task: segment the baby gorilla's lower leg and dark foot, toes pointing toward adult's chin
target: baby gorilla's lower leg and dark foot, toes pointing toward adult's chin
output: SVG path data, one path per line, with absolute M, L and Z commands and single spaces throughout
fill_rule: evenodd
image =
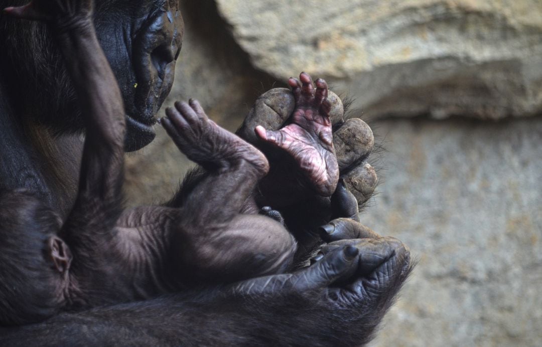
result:
M 183 187 L 183 209 L 193 207 L 203 220 L 213 216 L 218 221 L 230 221 L 267 174 L 266 157 L 210 120 L 195 100 L 189 104 L 176 102 L 175 108 L 167 108 L 166 115 L 160 123 L 173 142 L 207 171 L 191 187 Z

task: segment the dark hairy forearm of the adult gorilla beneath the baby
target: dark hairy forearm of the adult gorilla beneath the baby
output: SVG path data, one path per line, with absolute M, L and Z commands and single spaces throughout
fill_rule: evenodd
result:
M 319 305 L 317 299 L 307 302 L 281 295 L 268 300 L 236 299 L 222 297 L 218 291 L 205 291 L 199 295 L 176 294 L 144 303 L 62 314 L 49 322 L 11 331 L 4 342 L 183 346 L 362 344 L 367 331 L 349 331 L 358 317 L 351 317 L 353 321 L 344 324 L 341 322 L 344 316 L 345 312 L 335 316 L 324 303 Z M 130 324 L 126 324 L 127 320 Z

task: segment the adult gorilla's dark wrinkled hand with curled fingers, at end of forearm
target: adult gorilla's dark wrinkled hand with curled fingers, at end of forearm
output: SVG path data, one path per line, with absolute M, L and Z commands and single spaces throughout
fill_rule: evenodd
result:
M 364 344 L 393 303 L 412 268 L 409 249 L 350 219 L 337 221 L 334 229 L 335 239 L 359 238 L 328 243 L 313 265 L 293 274 L 231 288 L 241 307 L 267 311 L 257 324 L 247 322 L 267 343 Z

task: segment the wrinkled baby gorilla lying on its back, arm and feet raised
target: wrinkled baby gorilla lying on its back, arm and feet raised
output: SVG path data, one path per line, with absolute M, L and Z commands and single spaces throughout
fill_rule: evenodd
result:
M 156 297 L 186 285 L 222 284 L 284 271 L 296 243 L 283 225 L 256 212 L 252 198 L 266 157 L 209 120 L 197 101 L 178 102 L 161 123 L 204 171 L 180 191 L 180 208 L 122 210 L 125 113 L 96 39 L 90 0 L 35 0 L 7 9 L 48 21 L 86 120 L 79 191 L 67 220 L 24 191 L 0 194 L 0 324 L 43 320 L 59 310 Z M 76 21 L 66 18 L 77 18 Z M 256 128 L 300 165 L 313 190 L 338 181 L 327 85 L 290 79 L 296 108 L 279 131 Z M 241 213 L 243 212 L 243 213 Z M 267 212 L 270 215 L 271 213 Z

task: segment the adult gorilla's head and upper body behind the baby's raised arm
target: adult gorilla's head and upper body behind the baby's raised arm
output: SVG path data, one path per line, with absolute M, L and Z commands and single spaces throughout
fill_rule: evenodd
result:
M 1 0 L 0 8 L 27 3 Z M 83 129 L 62 57 L 41 22 L 0 14 L 1 188 L 36 192 L 63 215 L 72 207 Z M 149 144 L 173 83 L 184 24 L 177 1 L 95 4 L 96 34 L 126 107 L 126 150 Z

